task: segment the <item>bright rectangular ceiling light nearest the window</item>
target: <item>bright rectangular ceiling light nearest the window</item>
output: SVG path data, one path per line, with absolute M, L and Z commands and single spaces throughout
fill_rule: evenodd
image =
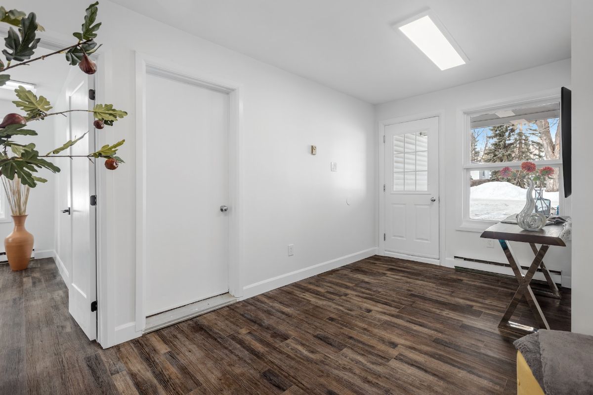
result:
M 431 11 L 394 25 L 441 70 L 464 65 L 468 59 Z

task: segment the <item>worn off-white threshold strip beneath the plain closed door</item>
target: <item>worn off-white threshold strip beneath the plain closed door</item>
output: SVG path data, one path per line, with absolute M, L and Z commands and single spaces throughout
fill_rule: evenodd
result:
M 165 326 L 173 325 L 178 322 L 189 320 L 190 318 L 200 316 L 209 311 L 220 309 L 229 304 L 237 303 L 238 299 L 229 293 L 213 296 L 208 299 L 200 300 L 177 309 L 163 311 L 146 317 L 146 327 L 142 333 L 153 332 L 162 329 Z

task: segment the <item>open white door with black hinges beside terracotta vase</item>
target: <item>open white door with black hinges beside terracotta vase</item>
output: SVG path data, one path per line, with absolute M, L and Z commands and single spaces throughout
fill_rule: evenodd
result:
M 91 108 L 88 89 L 92 87 L 93 79 L 79 73 L 79 77 L 69 80 L 68 84 L 69 109 Z M 69 149 L 70 155 L 88 155 L 95 150 L 95 134 L 91 124 L 90 113 L 76 111 L 69 114 L 70 139 L 74 140 L 88 131 L 84 139 Z M 85 158 L 71 160 L 72 270 L 68 287 L 68 310 L 91 340 L 97 337 L 97 312 L 91 311 L 91 303 L 97 295 L 95 207 L 90 204 L 90 196 L 95 194 L 93 162 Z

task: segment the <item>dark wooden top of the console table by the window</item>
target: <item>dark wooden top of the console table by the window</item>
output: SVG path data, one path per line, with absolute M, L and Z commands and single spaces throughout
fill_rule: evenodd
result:
M 506 220 L 515 219 L 515 215 Z M 570 238 L 572 222 L 544 226 L 543 229 L 531 232 L 524 230 L 517 224 L 499 222 L 484 230 L 480 237 L 484 239 L 507 240 L 511 242 L 546 244 L 549 246 L 566 246 Z

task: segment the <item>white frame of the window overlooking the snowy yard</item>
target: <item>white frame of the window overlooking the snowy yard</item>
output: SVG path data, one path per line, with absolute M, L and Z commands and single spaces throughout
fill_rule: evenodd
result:
M 496 220 L 484 220 L 484 219 L 473 219 L 470 217 L 470 179 L 471 171 L 484 171 L 484 170 L 499 170 L 505 166 L 509 166 L 511 169 L 521 168 L 523 161 L 514 162 L 500 162 L 500 163 L 472 163 L 470 155 L 470 133 L 471 133 L 471 117 L 476 115 L 489 114 L 496 111 L 512 110 L 517 107 L 530 107 L 536 105 L 549 104 L 550 102 L 560 102 L 560 95 L 542 95 L 537 98 L 527 100 L 512 100 L 505 101 L 498 105 L 486 105 L 483 107 L 467 108 L 461 110 L 461 132 L 463 139 L 463 150 L 461 155 L 461 223 L 457 227 L 457 230 L 467 230 L 470 232 L 482 232 L 489 226 L 492 226 L 499 221 Z M 559 205 L 560 215 L 569 215 L 567 210 L 567 199 L 564 197 L 564 185 L 562 180 L 562 143 L 560 144 L 560 159 L 543 159 L 533 161 L 538 167 L 551 166 L 559 169 Z

